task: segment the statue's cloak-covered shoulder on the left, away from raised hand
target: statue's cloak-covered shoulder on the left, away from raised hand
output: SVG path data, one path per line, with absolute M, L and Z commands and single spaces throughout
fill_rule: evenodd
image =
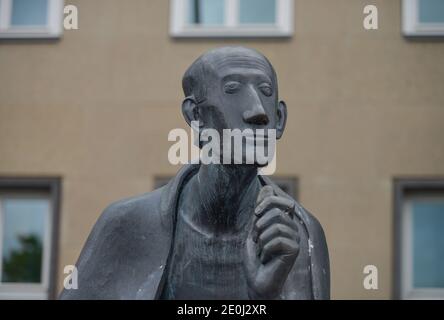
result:
M 116 201 L 103 211 L 76 263 L 78 289 L 64 290 L 61 299 L 135 298 L 137 290 L 125 288 L 141 286 L 168 252 L 159 214 L 162 191 Z

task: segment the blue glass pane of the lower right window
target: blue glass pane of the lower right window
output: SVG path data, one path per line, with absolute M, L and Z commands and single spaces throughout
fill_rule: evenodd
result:
M 413 285 L 444 288 L 444 201 L 412 205 Z

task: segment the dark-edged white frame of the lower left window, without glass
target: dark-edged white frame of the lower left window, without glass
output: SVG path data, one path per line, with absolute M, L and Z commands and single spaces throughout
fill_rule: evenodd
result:
M 4 198 L 48 199 L 50 210 L 47 217 L 48 229 L 44 239 L 44 248 L 47 249 L 43 250 L 41 282 L 38 284 L 0 282 L 0 299 L 54 299 L 56 297 L 60 186 L 59 178 L 0 177 L 0 220 L 3 219 L 1 202 Z M 3 260 L 2 241 L 3 234 L 0 230 L 0 254 Z M 2 267 L 3 261 L 1 261 L 0 269 Z

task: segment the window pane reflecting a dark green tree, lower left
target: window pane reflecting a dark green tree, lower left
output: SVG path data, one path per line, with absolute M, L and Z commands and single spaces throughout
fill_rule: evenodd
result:
M 41 282 L 48 200 L 5 199 L 2 211 L 2 282 Z

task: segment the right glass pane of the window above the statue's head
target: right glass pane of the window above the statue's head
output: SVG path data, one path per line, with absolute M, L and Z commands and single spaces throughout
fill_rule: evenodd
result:
M 240 23 L 275 23 L 276 0 L 240 0 Z

